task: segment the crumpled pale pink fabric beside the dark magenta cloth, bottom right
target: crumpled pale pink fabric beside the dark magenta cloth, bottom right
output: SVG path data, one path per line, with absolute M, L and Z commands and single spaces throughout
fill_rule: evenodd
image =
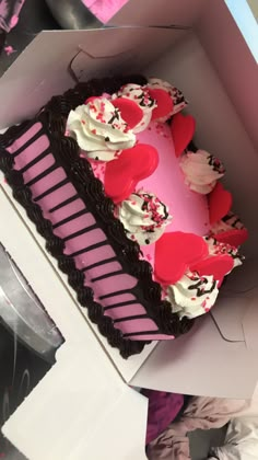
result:
M 220 398 L 194 398 L 179 422 L 172 423 L 149 445 L 149 460 L 190 460 L 188 432 L 221 428 L 242 414 L 249 402 Z

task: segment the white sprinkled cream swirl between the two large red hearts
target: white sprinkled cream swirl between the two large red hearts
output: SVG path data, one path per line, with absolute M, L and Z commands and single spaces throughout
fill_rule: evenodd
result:
M 132 193 L 117 207 L 117 216 L 128 238 L 140 245 L 159 240 L 172 220 L 168 208 L 154 194 L 146 192 Z

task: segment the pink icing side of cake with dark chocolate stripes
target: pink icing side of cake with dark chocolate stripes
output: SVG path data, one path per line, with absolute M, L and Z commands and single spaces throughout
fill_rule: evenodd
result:
M 24 169 L 23 175 L 25 182 L 30 183 L 31 181 L 34 181 L 33 185 L 30 186 L 33 197 L 36 203 L 40 205 L 44 217 L 49 219 L 54 225 L 55 234 L 66 241 L 64 253 L 71 255 L 74 252 L 86 248 L 87 252 L 73 255 L 77 267 L 81 269 L 86 266 L 90 267 L 98 261 L 107 260 L 107 262 L 99 267 L 85 268 L 85 285 L 94 289 L 95 300 L 99 301 L 104 308 L 127 301 L 134 301 L 132 304 L 121 306 L 119 308 L 114 307 L 105 311 L 105 314 L 110 315 L 115 320 L 115 326 L 120 329 L 124 334 L 127 334 L 127 336 L 130 337 L 130 334 L 139 333 L 140 340 L 173 338 L 173 336 L 165 334 L 156 334 L 157 326 L 151 319 L 143 317 L 138 318 L 137 320 L 128 320 L 128 318 L 133 317 L 133 314 L 145 315 L 144 308 L 130 291 L 130 289 L 137 285 L 138 280 L 129 274 L 120 273 L 122 267 L 118 260 L 108 261 L 112 257 L 116 257 L 116 254 L 109 245 L 103 230 L 94 228 L 87 231 L 87 229 L 95 225 L 95 218 L 86 209 L 83 202 L 80 198 L 77 198 L 77 191 L 73 185 L 66 183 L 67 175 L 64 170 L 60 166 L 56 166 L 55 170 L 51 169 L 44 177 L 38 177 L 37 180 L 37 176 L 55 164 L 54 156 L 50 152 L 49 141 L 45 135 L 40 136 L 40 124 L 36 123 L 32 128 L 27 129 L 20 139 L 13 142 L 8 150 L 15 156 L 14 169 Z M 27 141 L 32 141 L 32 143 L 26 146 Z M 44 152 L 46 152 L 46 157 L 44 157 Z M 33 162 L 31 166 L 28 164 L 30 162 Z M 62 184 L 63 181 L 64 183 Z M 50 191 L 51 187 L 56 187 L 58 184 L 60 185 L 57 189 Z M 46 195 L 40 196 L 42 194 Z M 51 211 L 54 207 L 74 196 L 75 199 L 72 203 Z M 62 223 L 62 220 L 70 216 L 72 216 L 72 219 L 69 222 Z M 75 233 L 82 229 L 85 230 L 85 233 L 75 235 Z M 92 248 L 92 245 L 99 242 L 104 242 L 105 245 Z M 94 281 L 94 278 L 102 277 L 105 274 L 109 274 L 110 276 Z M 124 292 L 117 295 L 116 292 L 119 291 Z M 114 294 L 114 296 L 112 296 L 112 294 Z M 110 297 L 103 299 L 102 296 Z M 124 321 L 122 319 L 127 320 Z M 153 334 L 150 334 L 149 331 L 152 331 Z M 139 336 L 136 335 L 131 338 L 139 340 Z

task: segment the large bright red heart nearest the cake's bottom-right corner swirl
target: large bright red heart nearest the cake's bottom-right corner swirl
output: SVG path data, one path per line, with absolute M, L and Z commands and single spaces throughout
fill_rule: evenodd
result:
M 174 285 L 190 265 L 207 256 L 208 245 L 201 237 L 180 231 L 164 233 L 155 244 L 155 277 L 162 285 Z

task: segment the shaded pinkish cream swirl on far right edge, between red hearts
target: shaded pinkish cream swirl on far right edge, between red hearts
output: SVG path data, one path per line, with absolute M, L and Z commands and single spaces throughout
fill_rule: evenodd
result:
M 179 164 L 186 184 L 201 195 L 209 194 L 225 173 L 221 161 L 206 150 L 197 150 L 196 153 L 188 151 L 180 158 Z

